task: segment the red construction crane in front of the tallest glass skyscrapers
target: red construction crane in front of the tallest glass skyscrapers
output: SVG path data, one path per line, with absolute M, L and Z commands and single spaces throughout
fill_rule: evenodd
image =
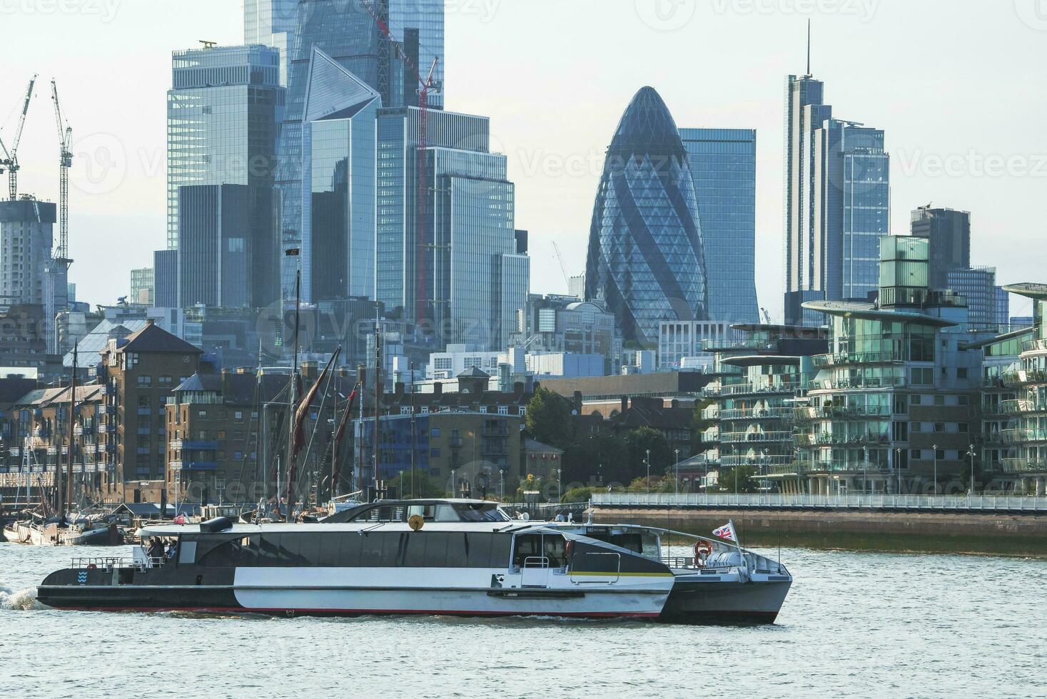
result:
M 423 264 L 425 252 L 428 249 L 435 249 L 435 245 L 427 241 L 427 229 L 425 226 L 425 217 L 428 211 L 429 202 L 429 173 L 428 173 L 428 161 L 426 160 L 427 154 L 426 150 L 429 146 L 428 139 L 428 117 L 429 117 L 429 92 L 437 91 L 440 89 L 440 85 L 433 77 L 437 72 L 437 66 L 440 63 L 440 59 L 437 58 L 432 61 L 432 66 L 429 68 L 429 73 L 425 77 L 422 77 L 422 73 L 419 71 L 418 64 L 407 57 L 407 53 L 403 50 L 403 46 L 400 42 L 393 38 L 393 31 L 389 29 L 388 25 L 388 12 L 386 10 L 384 16 L 379 12 L 375 2 L 370 0 L 360 0 L 360 5 L 366 9 L 371 16 L 375 19 L 375 23 L 378 25 L 378 29 L 385 36 L 385 39 L 389 42 L 389 45 L 396 49 L 397 57 L 403 62 L 404 69 L 409 70 L 415 74 L 418 80 L 419 92 L 418 92 L 418 193 L 416 199 L 418 200 L 418 208 L 415 213 L 415 258 L 416 258 L 416 274 L 418 278 L 418 297 L 415 303 L 415 318 L 416 320 L 422 320 L 426 316 L 426 312 L 429 307 L 428 294 L 428 273 Z

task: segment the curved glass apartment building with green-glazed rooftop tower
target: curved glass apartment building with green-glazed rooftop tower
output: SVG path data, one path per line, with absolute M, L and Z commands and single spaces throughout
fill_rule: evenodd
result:
M 829 354 L 815 358 L 783 488 L 931 493 L 966 472 L 982 356 L 962 297 L 928 287 L 928 253 L 926 240 L 886 238 L 878 303 L 805 303 L 828 319 Z

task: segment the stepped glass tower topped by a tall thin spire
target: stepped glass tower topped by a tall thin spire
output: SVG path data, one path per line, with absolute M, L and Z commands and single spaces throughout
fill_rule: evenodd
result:
M 822 322 L 812 300 L 865 298 L 877 288 L 890 232 L 884 132 L 832 118 L 824 85 L 789 75 L 785 114 L 785 322 Z

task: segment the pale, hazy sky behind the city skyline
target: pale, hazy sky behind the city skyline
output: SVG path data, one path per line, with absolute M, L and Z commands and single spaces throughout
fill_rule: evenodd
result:
M 782 314 L 786 76 L 811 72 L 840 118 L 886 131 L 892 232 L 928 203 L 970 210 L 973 262 L 999 283 L 1047 280 L 1045 0 L 447 0 L 445 104 L 490 116 L 509 158 L 532 292 L 584 271 L 603 153 L 632 95 L 659 90 L 681 127 L 755 128 L 756 276 Z M 126 295 L 165 243 L 171 51 L 242 43 L 241 0 L 0 0 L 0 138 L 19 189 L 58 196 L 50 81 L 73 128 L 70 278 L 81 300 Z M 5 191 L 5 188 L 3 189 Z M 1029 315 L 1012 297 L 1012 315 Z

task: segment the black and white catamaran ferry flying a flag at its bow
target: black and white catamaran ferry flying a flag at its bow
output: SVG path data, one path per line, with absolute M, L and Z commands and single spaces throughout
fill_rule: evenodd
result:
M 281 615 L 634 617 L 773 623 L 793 578 L 722 541 L 647 526 L 512 519 L 483 500 L 378 501 L 319 523 L 157 524 L 132 559 L 76 559 L 59 609 Z M 693 546 L 667 546 L 687 537 Z M 172 545 L 173 544 L 173 545 Z M 686 556 L 669 556 L 671 551 Z

